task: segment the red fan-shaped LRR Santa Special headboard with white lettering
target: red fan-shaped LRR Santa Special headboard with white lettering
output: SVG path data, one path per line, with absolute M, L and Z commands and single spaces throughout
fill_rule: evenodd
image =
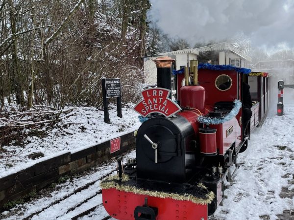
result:
M 142 91 L 143 100 L 139 102 L 134 110 L 146 117 L 151 113 L 161 113 L 166 117 L 180 111 L 181 108 L 169 99 L 171 90 L 166 88 L 148 88 Z

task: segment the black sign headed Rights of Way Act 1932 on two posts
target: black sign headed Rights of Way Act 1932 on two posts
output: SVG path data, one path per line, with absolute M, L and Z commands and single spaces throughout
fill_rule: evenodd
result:
M 101 78 L 102 83 L 102 96 L 103 96 L 103 108 L 104 108 L 104 122 L 110 123 L 109 113 L 108 113 L 108 99 L 117 97 L 117 111 L 118 116 L 123 117 L 122 114 L 122 89 L 121 89 L 121 79 L 106 79 Z

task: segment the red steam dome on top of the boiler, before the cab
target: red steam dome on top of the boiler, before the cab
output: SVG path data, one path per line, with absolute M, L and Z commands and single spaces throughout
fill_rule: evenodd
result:
M 181 106 L 189 106 L 205 113 L 205 88 L 201 86 L 183 86 L 180 89 Z

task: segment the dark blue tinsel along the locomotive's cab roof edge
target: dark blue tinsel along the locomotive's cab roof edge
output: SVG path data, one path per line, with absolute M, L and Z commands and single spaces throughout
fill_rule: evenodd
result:
M 211 70 L 235 70 L 239 73 L 249 74 L 251 72 L 251 69 L 247 68 L 241 68 L 231 65 L 211 65 L 211 64 L 199 64 L 198 69 L 211 69 Z M 172 70 L 172 74 L 181 74 L 184 72 L 184 68 L 181 68 L 180 70 Z

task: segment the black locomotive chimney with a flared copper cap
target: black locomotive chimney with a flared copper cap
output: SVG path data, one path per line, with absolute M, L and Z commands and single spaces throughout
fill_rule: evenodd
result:
M 171 57 L 157 57 L 153 60 L 157 68 L 157 87 L 172 90 L 171 67 L 174 61 Z M 172 92 L 169 98 L 172 99 Z

